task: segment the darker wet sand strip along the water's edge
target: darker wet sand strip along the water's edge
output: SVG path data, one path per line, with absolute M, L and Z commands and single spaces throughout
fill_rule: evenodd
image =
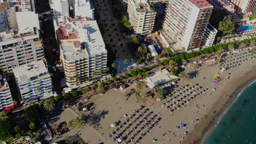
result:
M 243 73 L 242 76 L 232 79 L 228 86 L 222 91 L 219 100 L 214 103 L 214 108 L 211 109 L 201 122 L 195 125 L 193 131 L 182 143 L 201 143 L 206 141 L 206 139 L 212 134 L 214 129 L 217 127 L 218 123 L 222 121 L 226 112 L 229 111 L 232 104 L 235 103 L 241 92 L 245 90 L 251 83 L 256 81 L 256 65 L 254 65 L 249 71 Z M 229 98 L 226 100 L 226 96 Z M 224 102 L 224 103 L 223 103 Z

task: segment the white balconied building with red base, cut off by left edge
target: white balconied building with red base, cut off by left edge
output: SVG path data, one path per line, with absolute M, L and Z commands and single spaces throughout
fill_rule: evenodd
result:
M 13 98 L 11 98 L 9 85 L 2 71 L 0 72 L 0 110 L 13 109 Z

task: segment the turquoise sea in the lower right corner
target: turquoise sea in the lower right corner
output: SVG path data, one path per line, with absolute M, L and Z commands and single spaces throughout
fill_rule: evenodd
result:
M 256 82 L 230 107 L 204 144 L 256 143 Z

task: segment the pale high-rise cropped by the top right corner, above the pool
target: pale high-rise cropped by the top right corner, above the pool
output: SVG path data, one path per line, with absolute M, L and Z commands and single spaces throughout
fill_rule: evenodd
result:
M 247 13 L 256 11 L 255 0 L 228 0 L 235 5 L 236 13 Z

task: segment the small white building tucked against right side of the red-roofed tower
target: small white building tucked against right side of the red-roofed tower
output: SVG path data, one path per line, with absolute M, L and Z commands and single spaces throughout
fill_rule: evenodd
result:
M 209 25 L 206 28 L 205 38 L 203 39 L 204 47 L 213 45 L 217 33 L 217 29 L 209 23 Z

